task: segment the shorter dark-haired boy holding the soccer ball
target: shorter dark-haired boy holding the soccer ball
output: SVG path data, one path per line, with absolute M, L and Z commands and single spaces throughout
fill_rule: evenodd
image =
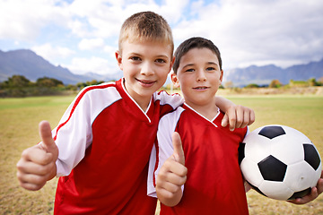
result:
M 223 80 L 219 49 L 208 39 L 187 39 L 175 52 L 173 71 L 185 102 L 160 120 L 148 193 L 162 202 L 161 214 L 249 214 L 238 162 L 248 127 L 231 132 L 221 126 L 224 114 L 214 106 Z M 322 191 L 320 179 L 294 203 L 310 202 Z

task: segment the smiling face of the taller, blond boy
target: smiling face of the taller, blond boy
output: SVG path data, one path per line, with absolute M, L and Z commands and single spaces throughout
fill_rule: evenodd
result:
M 137 103 L 149 103 L 153 92 L 162 87 L 170 73 L 171 48 L 160 42 L 127 40 L 122 47 L 122 54 L 116 52 L 116 57 L 124 73 L 127 92 Z

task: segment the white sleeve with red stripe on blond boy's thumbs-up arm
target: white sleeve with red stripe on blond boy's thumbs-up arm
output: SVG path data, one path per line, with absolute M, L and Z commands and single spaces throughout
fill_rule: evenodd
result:
M 114 82 L 84 88 L 67 108 L 57 128 L 59 150 L 57 176 L 67 176 L 83 159 L 85 150 L 92 144 L 92 123 L 100 112 L 118 99 L 122 99 Z

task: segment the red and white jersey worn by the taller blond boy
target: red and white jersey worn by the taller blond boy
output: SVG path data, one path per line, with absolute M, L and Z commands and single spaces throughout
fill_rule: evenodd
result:
M 55 214 L 154 214 L 146 194 L 159 119 L 181 105 L 154 93 L 144 112 L 123 79 L 83 89 L 52 133 L 57 143 Z

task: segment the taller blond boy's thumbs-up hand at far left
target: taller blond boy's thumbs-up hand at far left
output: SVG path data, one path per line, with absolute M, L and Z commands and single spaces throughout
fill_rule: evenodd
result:
M 23 150 L 22 158 L 17 163 L 20 185 L 32 191 L 43 187 L 57 172 L 58 148 L 47 121 L 39 123 L 39 135 L 42 142 Z

